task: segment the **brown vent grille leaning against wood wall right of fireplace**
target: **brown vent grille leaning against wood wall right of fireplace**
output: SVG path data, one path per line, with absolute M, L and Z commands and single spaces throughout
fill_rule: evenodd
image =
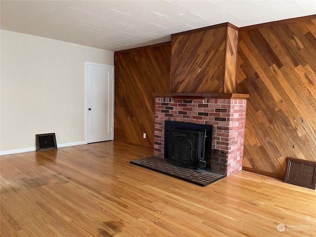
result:
M 315 190 L 316 161 L 287 157 L 284 183 Z

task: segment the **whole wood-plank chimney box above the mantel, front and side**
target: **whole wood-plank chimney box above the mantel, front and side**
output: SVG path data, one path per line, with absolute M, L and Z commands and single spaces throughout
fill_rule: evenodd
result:
M 238 28 L 230 23 L 171 35 L 174 93 L 235 93 Z

